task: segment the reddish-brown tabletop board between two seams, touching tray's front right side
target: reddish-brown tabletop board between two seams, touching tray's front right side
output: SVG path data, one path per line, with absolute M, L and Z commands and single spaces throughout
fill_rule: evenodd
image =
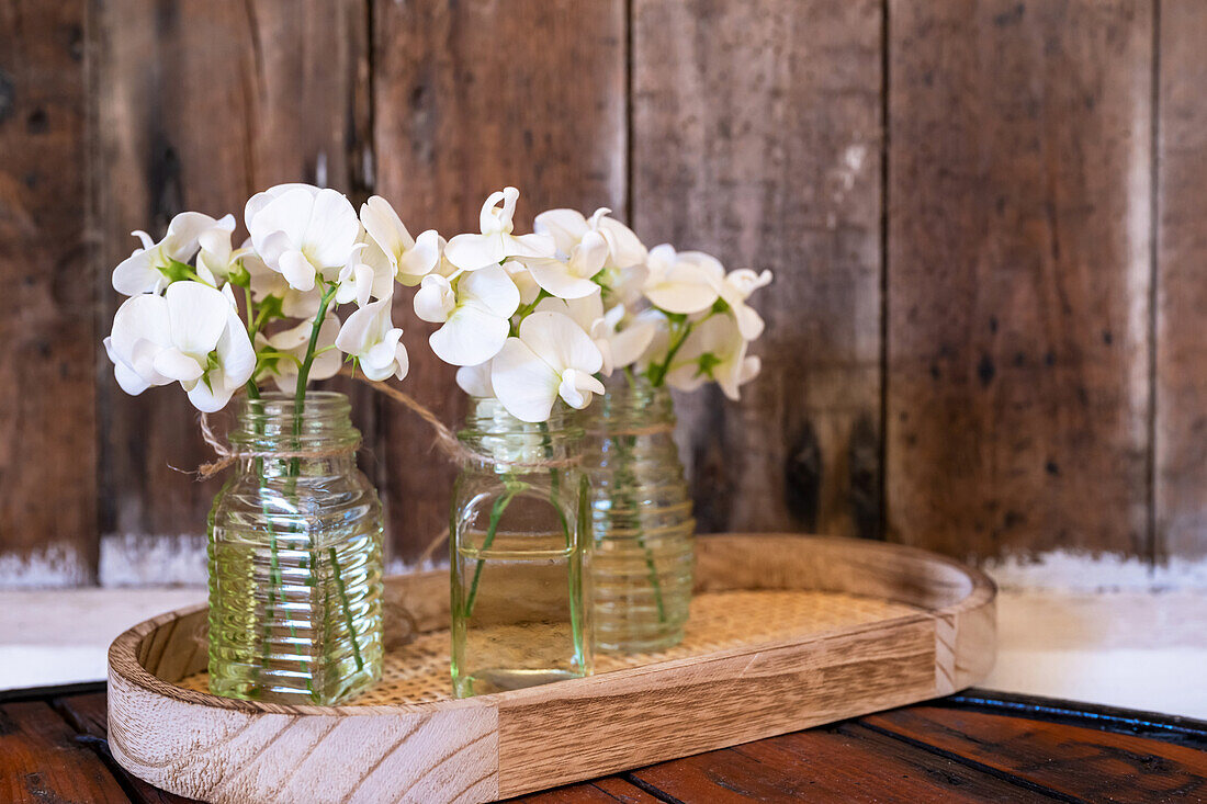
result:
M 701 753 L 632 774 L 682 802 L 1018 802 L 1031 791 L 855 723 Z M 890 781 L 891 780 L 891 781 Z

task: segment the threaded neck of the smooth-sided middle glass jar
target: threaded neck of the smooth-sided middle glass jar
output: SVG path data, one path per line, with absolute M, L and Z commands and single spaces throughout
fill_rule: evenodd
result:
M 566 468 L 578 456 L 582 427 L 559 401 L 548 421 L 520 421 L 498 400 L 473 398 L 465 429 L 457 433 L 470 450 L 490 459 L 489 468 L 511 471 Z M 480 466 L 482 464 L 479 464 Z

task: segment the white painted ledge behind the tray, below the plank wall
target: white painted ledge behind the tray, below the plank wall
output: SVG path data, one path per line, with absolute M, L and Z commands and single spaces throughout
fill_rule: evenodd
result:
M 205 600 L 200 587 L 0 592 L 0 689 L 105 677 L 130 625 Z M 1207 590 L 1005 590 L 981 686 L 1207 719 Z

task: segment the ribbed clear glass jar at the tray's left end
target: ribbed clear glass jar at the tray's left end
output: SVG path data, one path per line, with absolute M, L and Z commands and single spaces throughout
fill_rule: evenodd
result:
M 332 705 L 381 676 L 381 505 L 343 394 L 244 400 L 209 519 L 210 692 Z M 301 453 L 301 454 L 299 454 Z

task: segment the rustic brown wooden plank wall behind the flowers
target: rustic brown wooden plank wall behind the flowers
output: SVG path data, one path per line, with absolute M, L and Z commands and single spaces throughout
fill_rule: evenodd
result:
M 205 450 L 113 383 L 109 273 L 299 179 L 442 232 L 514 183 L 525 225 L 774 269 L 763 377 L 681 401 L 704 531 L 1202 557 L 1203 42 L 1201 0 L 0 0 L 0 584 L 200 543 L 216 485 L 168 465 Z M 453 471 L 355 394 L 414 559 Z

